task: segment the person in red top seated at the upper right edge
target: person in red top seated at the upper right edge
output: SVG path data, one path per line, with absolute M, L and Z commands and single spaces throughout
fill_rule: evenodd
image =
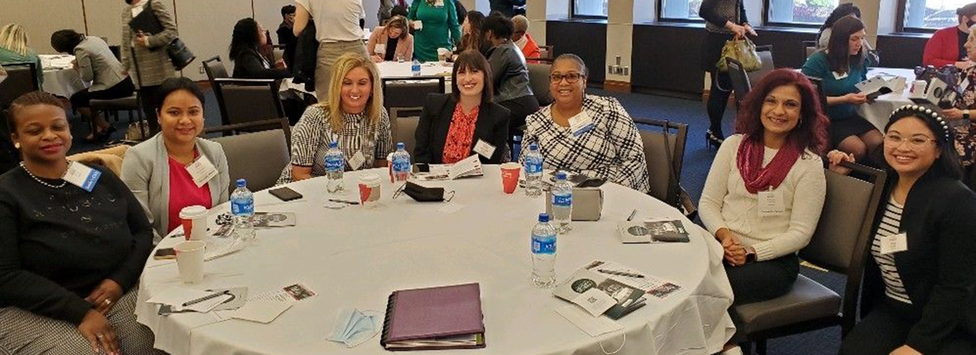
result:
M 946 65 L 956 65 L 965 69 L 973 65 L 963 46 L 969 37 L 969 27 L 976 24 L 976 3 L 956 9 L 959 24 L 946 27 L 932 34 L 932 38 L 925 43 L 925 53 L 922 55 L 922 65 L 934 65 L 941 68 Z

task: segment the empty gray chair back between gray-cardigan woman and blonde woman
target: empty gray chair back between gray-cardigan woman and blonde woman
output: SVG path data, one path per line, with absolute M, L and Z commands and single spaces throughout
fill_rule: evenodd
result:
M 233 134 L 275 124 L 279 126 L 274 129 Z M 274 186 L 281 169 L 291 160 L 291 127 L 288 119 L 209 127 L 201 135 L 216 132 L 232 134 L 210 139 L 224 147 L 230 179 L 247 179 L 248 189 L 252 191 Z M 231 184 L 230 190 L 233 189 Z

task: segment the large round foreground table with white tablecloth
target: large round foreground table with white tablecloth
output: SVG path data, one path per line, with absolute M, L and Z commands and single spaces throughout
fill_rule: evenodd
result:
M 590 337 L 553 311 L 571 304 L 534 288 L 529 235 L 545 211 L 543 197 L 519 189 L 502 192 L 497 165 L 485 165 L 483 177 L 423 182 L 455 191 L 449 203 L 462 209 L 438 211 L 446 202 L 417 202 L 407 195 L 392 199 L 394 185 L 384 179 L 380 204 L 334 210 L 323 206 L 325 179 L 288 186 L 304 195 L 281 202 L 266 191 L 255 194 L 256 211 L 295 212 L 297 226 L 257 231 L 257 245 L 206 262 L 196 289 L 247 286 L 249 295 L 303 283 L 317 295 L 296 302 L 269 324 L 243 320 L 214 323 L 208 314 L 158 316 L 158 305 L 145 301 L 180 286 L 175 263 L 153 264 L 142 273 L 136 314 L 156 335 L 156 347 L 185 354 L 379 354 L 380 336 L 346 348 L 327 340 L 342 307 L 384 311 L 396 290 L 480 283 L 487 346 L 476 350 L 422 351 L 428 354 L 711 354 L 731 337 L 726 313 L 732 290 L 721 265 L 721 246 L 676 209 L 616 184 L 606 184 L 598 222 L 573 222 L 559 236 L 556 277 L 565 281 L 593 260 L 618 262 L 651 276 L 676 282 L 681 289 L 665 299 L 647 295 L 647 305 L 617 322 L 623 331 Z M 386 177 L 386 169 L 373 171 Z M 362 172 L 346 172 L 346 189 Z M 346 198 L 357 195 L 347 193 Z M 681 219 L 691 242 L 622 244 L 616 225 L 637 208 L 636 220 Z M 225 212 L 226 204 L 211 210 Z M 211 221 L 211 223 L 214 223 Z M 179 231 L 179 230 L 178 230 Z M 175 231 L 176 232 L 176 231 Z M 182 237 L 167 237 L 160 247 Z

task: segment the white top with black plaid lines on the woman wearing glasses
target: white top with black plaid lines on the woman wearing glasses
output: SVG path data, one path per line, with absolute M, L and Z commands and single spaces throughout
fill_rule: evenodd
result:
M 584 96 L 583 110 L 590 114 L 593 128 L 580 136 L 574 136 L 569 127 L 555 124 L 551 109 L 549 105 L 525 120 L 525 149 L 519 161 L 525 161 L 529 144 L 536 143 L 547 169 L 581 172 L 641 193 L 650 190 L 637 126 L 616 98 Z

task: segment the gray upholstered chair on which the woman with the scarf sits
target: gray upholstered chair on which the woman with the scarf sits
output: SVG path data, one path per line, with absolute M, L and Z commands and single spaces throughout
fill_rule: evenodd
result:
M 765 302 L 736 306 L 743 329 L 757 352 L 766 352 L 766 339 L 786 337 L 840 326 L 841 336 L 855 324 L 861 279 L 869 258 L 874 217 L 886 174 L 871 167 L 844 163 L 861 180 L 825 171 L 827 200 L 810 243 L 799 251 L 800 259 L 846 276 L 844 296 L 803 275 L 787 295 Z

